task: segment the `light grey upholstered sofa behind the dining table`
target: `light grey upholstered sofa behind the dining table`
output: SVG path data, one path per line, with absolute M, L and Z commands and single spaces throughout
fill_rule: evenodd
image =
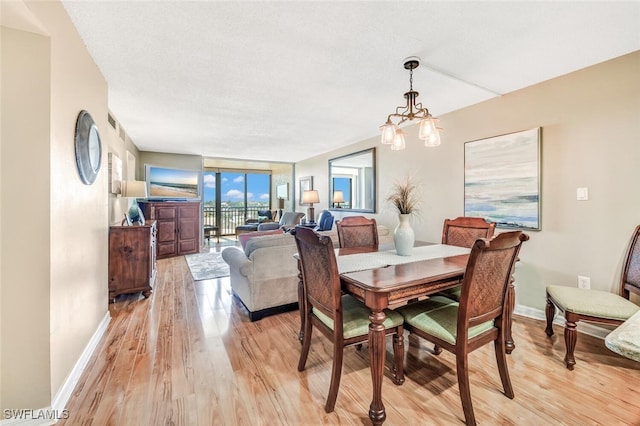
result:
M 329 235 L 339 247 L 335 226 L 320 234 Z M 222 258 L 229 265 L 231 289 L 247 309 L 249 319 L 257 321 L 298 308 L 298 252 L 295 237 L 289 233 L 243 235 L 244 248 L 227 247 Z M 380 246 L 393 245 L 393 234 L 378 225 Z

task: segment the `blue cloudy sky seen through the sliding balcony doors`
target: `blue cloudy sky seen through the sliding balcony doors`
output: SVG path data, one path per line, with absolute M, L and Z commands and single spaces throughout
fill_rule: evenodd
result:
M 242 202 L 244 200 L 244 173 L 223 172 L 221 174 L 221 201 Z M 247 173 L 247 201 L 269 202 L 269 175 L 262 173 Z M 204 174 L 204 201 L 215 200 L 215 173 Z

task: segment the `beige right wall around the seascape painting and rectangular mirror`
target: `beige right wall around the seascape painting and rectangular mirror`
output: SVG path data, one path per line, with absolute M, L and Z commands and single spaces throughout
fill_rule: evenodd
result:
M 407 149 L 394 152 L 379 137 L 296 164 L 297 176 L 314 176 L 318 209 L 327 207 L 327 159 L 376 146 L 378 214 L 395 227 L 384 202 L 405 171 L 423 184 L 416 238 L 439 241 L 445 218 L 463 215 L 464 143 L 542 127 L 542 230 L 529 232 L 517 269 L 517 303 L 544 308 L 546 284 L 614 290 L 628 239 L 640 223 L 640 52 L 635 52 L 499 98 L 445 114 L 442 145 L 425 148 L 416 126 L 407 128 Z M 428 106 L 428 94 L 425 94 Z M 390 108 L 393 105 L 390 105 Z M 589 201 L 576 201 L 576 188 Z

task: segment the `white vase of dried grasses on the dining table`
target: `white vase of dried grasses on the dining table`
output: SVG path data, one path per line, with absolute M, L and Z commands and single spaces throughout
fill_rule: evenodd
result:
M 391 193 L 387 197 L 387 201 L 398 211 L 400 220 L 393 231 L 396 253 L 400 256 L 411 256 L 413 254 L 415 234 L 411 227 L 410 219 L 412 215 L 420 213 L 418 185 L 409 176 L 402 181 L 395 182 L 391 187 Z

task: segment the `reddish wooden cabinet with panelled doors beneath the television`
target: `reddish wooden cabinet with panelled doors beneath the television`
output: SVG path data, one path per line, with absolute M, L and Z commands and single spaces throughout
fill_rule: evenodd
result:
M 138 204 L 147 219 L 158 222 L 158 259 L 198 253 L 199 201 L 140 201 Z

